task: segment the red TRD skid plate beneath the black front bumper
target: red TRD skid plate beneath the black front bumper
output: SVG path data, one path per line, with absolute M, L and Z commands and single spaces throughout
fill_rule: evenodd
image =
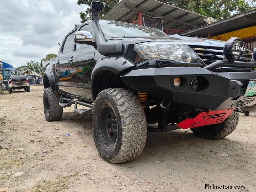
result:
M 224 109 L 219 111 L 202 112 L 193 119 L 185 119 L 176 126 L 182 129 L 189 129 L 194 127 L 201 127 L 205 125 L 212 125 L 223 122 L 231 115 L 234 109 Z

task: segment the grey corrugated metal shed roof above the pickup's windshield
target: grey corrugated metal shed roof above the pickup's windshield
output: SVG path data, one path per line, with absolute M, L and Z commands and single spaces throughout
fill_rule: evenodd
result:
M 153 17 L 163 18 L 163 28 L 189 30 L 205 24 L 208 17 L 156 0 L 122 0 L 103 19 L 125 21 L 142 11 Z M 165 24 L 166 23 L 166 24 Z

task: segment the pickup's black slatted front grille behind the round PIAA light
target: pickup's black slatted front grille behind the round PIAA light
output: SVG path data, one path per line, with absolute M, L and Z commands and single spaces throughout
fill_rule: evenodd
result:
M 204 61 L 206 65 L 209 65 L 215 61 L 223 60 L 223 47 L 214 46 L 199 46 L 199 45 L 188 45 L 194 52 Z M 252 52 L 246 50 L 246 54 L 238 61 L 250 62 L 252 60 Z

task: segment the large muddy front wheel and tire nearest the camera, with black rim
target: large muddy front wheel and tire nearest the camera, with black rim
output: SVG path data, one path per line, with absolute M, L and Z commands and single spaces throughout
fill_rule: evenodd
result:
M 138 97 L 121 88 L 101 91 L 92 109 L 92 133 L 104 160 L 122 163 L 138 157 L 147 138 L 146 116 Z

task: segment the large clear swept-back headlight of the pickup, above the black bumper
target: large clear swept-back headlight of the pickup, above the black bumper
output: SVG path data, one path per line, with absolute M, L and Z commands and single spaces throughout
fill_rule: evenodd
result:
M 145 59 L 168 60 L 179 63 L 202 63 L 199 56 L 188 45 L 179 42 L 146 42 L 134 45 Z

